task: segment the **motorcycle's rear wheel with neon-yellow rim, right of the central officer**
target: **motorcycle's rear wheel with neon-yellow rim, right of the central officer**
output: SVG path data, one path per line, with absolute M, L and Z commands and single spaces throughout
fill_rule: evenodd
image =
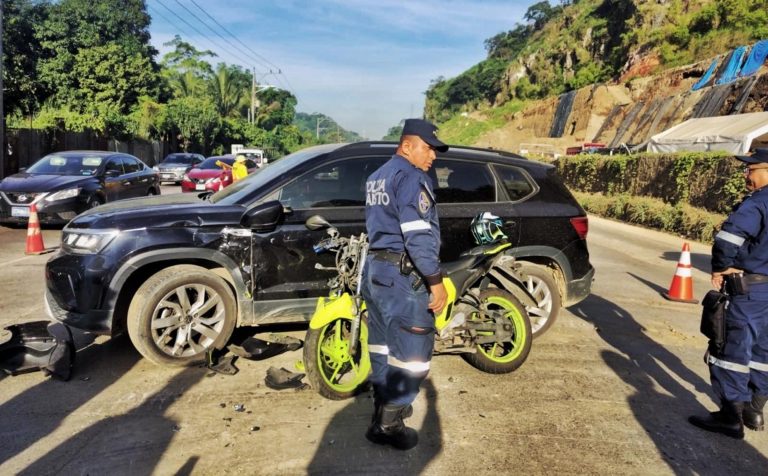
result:
M 525 307 L 512 294 L 496 288 L 482 291 L 480 302 L 481 309 L 471 319 L 492 322 L 489 314 L 503 313 L 512 326 L 512 338 L 505 342 L 478 344 L 475 353 L 462 354 L 462 357 L 476 369 L 491 374 L 517 370 L 528 358 L 533 341 L 531 321 Z

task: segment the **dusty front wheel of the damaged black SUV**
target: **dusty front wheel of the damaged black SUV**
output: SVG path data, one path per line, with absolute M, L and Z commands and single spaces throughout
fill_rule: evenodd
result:
M 200 266 L 171 266 L 136 291 L 128 308 L 128 335 L 155 364 L 190 365 L 224 347 L 236 315 L 235 297 L 221 277 Z

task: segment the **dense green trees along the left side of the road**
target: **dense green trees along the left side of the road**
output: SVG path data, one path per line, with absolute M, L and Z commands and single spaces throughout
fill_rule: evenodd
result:
M 252 72 L 178 36 L 158 61 L 143 0 L 7 0 L 2 11 L 8 127 L 166 140 L 206 155 L 240 143 L 278 157 L 354 135 L 325 116 L 317 134 L 311 117 L 295 120 L 296 97 L 273 87 L 258 90 L 250 117 Z

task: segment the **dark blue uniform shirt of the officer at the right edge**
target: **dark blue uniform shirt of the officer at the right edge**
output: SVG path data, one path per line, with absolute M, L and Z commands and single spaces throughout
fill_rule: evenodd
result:
M 728 216 L 712 245 L 712 271 L 768 276 L 768 187 L 755 190 Z

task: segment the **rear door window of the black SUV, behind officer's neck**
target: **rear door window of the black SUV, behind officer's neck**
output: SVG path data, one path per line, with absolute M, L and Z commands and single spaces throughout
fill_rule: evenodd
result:
M 496 201 L 496 182 L 485 164 L 437 159 L 428 174 L 437 203 Z

